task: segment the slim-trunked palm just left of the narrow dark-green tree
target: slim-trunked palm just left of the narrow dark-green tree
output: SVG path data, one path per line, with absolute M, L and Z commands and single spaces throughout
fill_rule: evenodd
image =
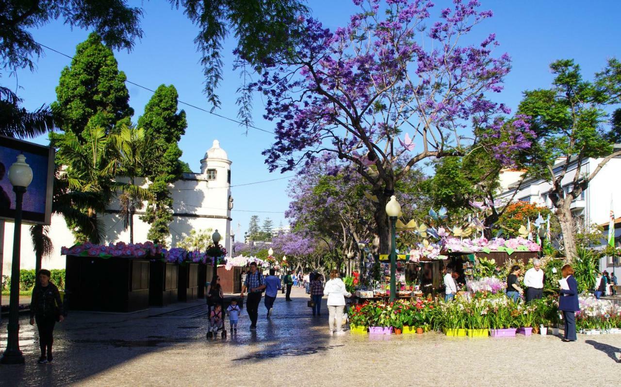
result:
M 144 176 L 145 167 L 153 165 L 161 155 L 164 143 L 145 135 L 142 128 L 123 126 L 119 134 L 112 135 L 116 151 L 117 175 L 129 178 L 129 184 L 120 187 L 119 195 L 123 226 L 129 227 L 129 242 L 134 243 L 134 213 L 142 209 L 143 201 L 153 199 L 145 188 L 135 184 L 136 178 Z

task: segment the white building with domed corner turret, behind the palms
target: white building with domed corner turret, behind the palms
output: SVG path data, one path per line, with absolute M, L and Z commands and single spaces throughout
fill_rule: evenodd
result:
M 201 173 L 184 173 L 181 180 L 176 181 L 170 192 L 173 198 L 173 221 L 169 225 L 170 237 L 167 245 L 175 247 L 186 237 L 190 230 L 218 230 L 222 235 L 221 244 L 231 251 L 233 235 L 231 235 L 231 209 L 233 199 L 230 191 L 231 161 L 224 149 L 220 148 L 218 140 L 214 140 L 212 148 L 207 150 L 201 160 Z M 146 188 L 146 184 L 143 185 Z M 146 203 L 145 203 L 146 204 Z M 141 221 L 142 211 L 134 214 L 134 242 L 147 241 L 150 225 Z M 123 229 L 123 221 L 119 215 L 119 203 L 114 201 L 109 211 L 103 215 L 105 223 L 105 243 L 129 243 L 129 229 Z M 0 249 L 3 254 L 2 274 L 10 275 L 13 232 L 12 222 L 6 222 L 4 227 L 4 246 Z M 21 268 L 35 267 L 35 256 L 30 242 L 30 225 L 22 225 Z M 0 232 L 0 242 L 2 242 Z M 54 252 L 50 257 L 44 257 L 43 268 L 65 268 L 65 257 L 60 255 L 62 246 L 74 244 L 73 235 L 66 227 L 65 219 L 61 216 L 52 216 L 50 237 L 54 245 Z

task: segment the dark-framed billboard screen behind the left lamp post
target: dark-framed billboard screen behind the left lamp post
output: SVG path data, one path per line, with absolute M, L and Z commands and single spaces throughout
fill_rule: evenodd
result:
M 24 153 L 32 168 L 32 183 L 26 189 L 22 204 L 22 222 L 50 224 L 54 184 L 54 149 L 32 142 L 0 136 L 0 219 L 15 219 L 15 199 L 9 168 Z

